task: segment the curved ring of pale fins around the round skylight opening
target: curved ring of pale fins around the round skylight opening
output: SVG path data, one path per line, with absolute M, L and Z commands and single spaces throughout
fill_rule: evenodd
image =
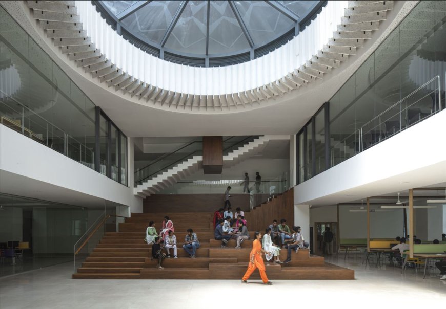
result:
M 386 12 L 393 8 L 393 1 L 367 2 L 344 9 L 344 16 L 337 32 L 316 55 L 294 69 L 287 76 L 265 84 L 255 89 L 222 95 L 193 95 L 173 92 L 147 84 L 144 81 L 123 72 L 100 53 L 86 35 L 74 1 L 59 1 L 57 4 L 48 2 L 28 1 L 28 7 L 33 10 L 34 19 L 39 20 L 40 28 L 53 38 L 55 46 L 61 47 L 60 52 L 68 54 L 71 61 L 78 67 L 83 67 L 93 79 L 105 82 L 115 92 L 144 103 L 152 103 L 155 108 L 168 109 L 177 112 L 196 112 L 200 110 L 215 113 L 227 113 L 268 106 L 271 99 L 307 85 L 315 80 L 322 80 L 324 74 L 339 68 L 349 55 L 356 53 L 356 48 L 364 45 L 364 41 L 372 37 L 372 32 L 379 29 L 379 22 L 386 19 Z M 133 99 L 134 100 L 134 99 Z M 188 111 L 186 111 L 188 109 Z

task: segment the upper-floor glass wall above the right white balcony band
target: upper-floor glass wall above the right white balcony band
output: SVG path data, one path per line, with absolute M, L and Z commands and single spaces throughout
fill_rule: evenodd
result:
M 419 2 L 299 131 L 298 183 L 445 108 L 445 21 L 445 1 Z

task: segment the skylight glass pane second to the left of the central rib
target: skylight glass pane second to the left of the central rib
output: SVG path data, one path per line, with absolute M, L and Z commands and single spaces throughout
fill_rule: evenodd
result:
M 129 31 L 160 43 L 182 1 L 151 1 L 122 20 Z

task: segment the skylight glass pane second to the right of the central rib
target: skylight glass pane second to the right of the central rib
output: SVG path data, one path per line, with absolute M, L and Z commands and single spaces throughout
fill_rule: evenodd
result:
M 291 30 L 295 23 L 264 1 L 235 1 L 248 32 L 259 46 Z

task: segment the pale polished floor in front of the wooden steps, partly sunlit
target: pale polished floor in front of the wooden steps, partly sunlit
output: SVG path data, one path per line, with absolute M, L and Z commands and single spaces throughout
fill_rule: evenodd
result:
M 0 278 L 0 308 L 252 308 L 327 306 L 425 308 L 446 304 L 446 280 L 433 272 L 364 266 L 341 254 L 327 261 L 355 270 L 356 280 L 72 280 L 73 263 Z M 267 268 L 268 273 L 268 268 Z M 226 305 L 225 305 L 226 302 Z M 219 304 L 220 303 L 220 304 Z M 239 305 L 237 305 L 239 304 Z

